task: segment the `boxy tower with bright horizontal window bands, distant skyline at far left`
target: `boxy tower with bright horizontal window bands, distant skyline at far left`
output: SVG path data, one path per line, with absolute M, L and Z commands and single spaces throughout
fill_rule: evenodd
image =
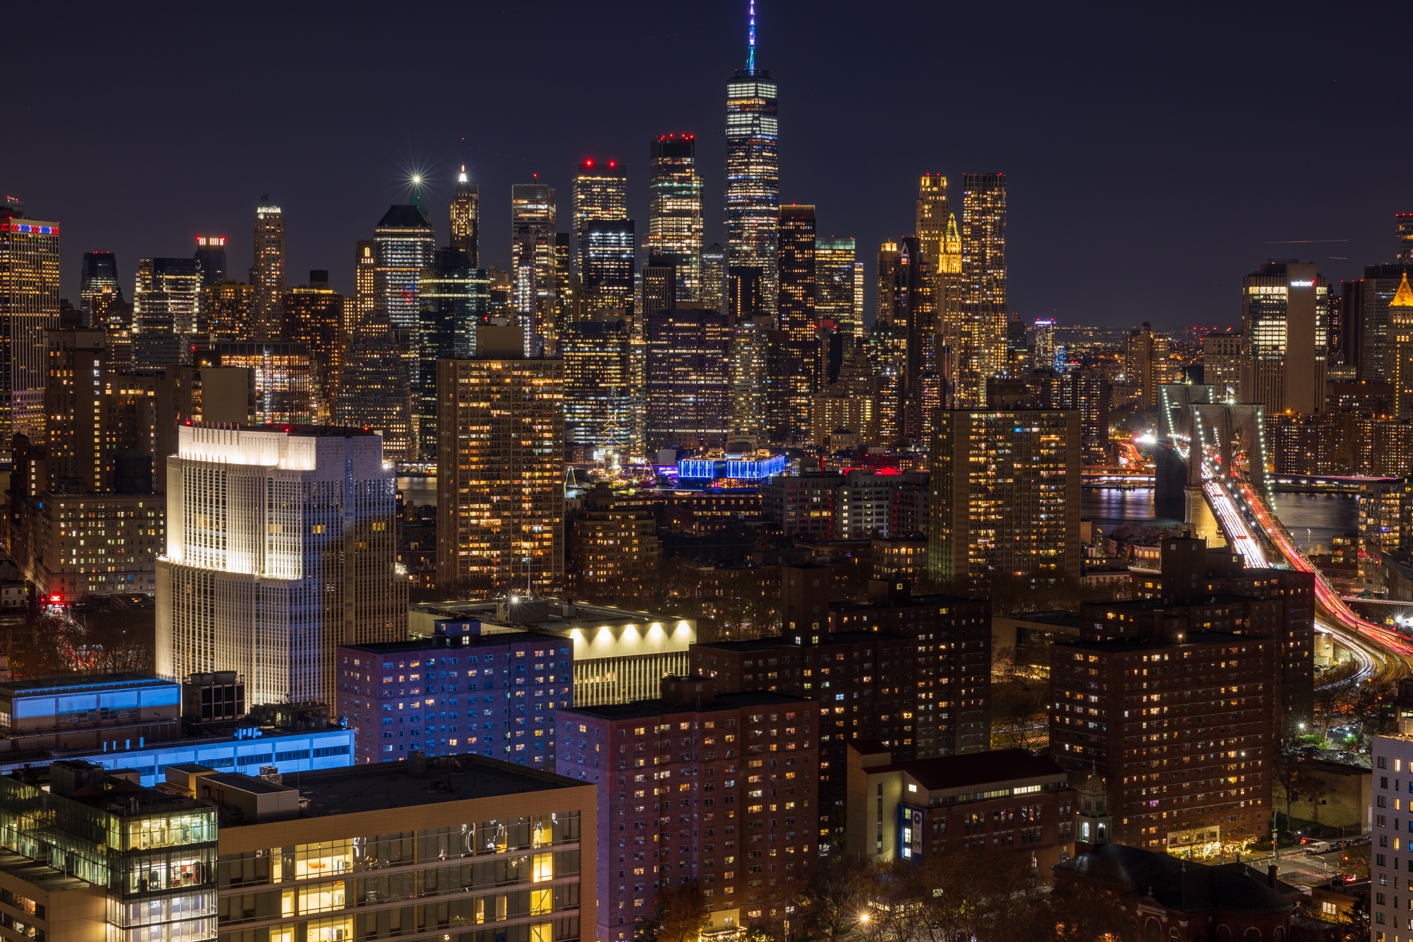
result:
M 278 299 L 276 301 L 278 306 Z M 201 326 L 201 268 L 195 258 L 141 258 L 133 291 L 133 366 L 160 370 L 191 362 Z

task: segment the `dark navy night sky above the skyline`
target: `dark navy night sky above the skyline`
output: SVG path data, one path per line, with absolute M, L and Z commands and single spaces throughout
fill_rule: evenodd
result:
M 510 257 L 510 185 L 558 191 L 627 161 L 647 229 L 647 143 L 698 136 L 706 243 L 722 239 L 725 85 L 746 1 L 16 4 L 6 11 L 0 189 L 62 225 L 64 295 L 86 250 L 229 237 L 246 280 L 261 193 L 284 209 L 288 282 L 353 290 L 407 178 L 438 242 L 465 162 L 482 264 Z M 1392 260 L 1413 210 L 1410 4 L 869 4 L 760 0 L 780 83 L 783 202 L 821 234 L 911 233 L 917 177 L 1005 171 L 1010 308 L 1061 325 L 1239 321 L 1243 274 Z M 1294 240 L 1296 244 L 1275 244 Z

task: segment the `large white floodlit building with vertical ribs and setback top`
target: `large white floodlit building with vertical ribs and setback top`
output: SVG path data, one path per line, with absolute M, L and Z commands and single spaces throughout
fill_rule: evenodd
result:
M 339 644 L 407 637 L 393 466 L 376 432 L 178 428 L 157 671 L 236 671 L 253 703 L 332 703 Z

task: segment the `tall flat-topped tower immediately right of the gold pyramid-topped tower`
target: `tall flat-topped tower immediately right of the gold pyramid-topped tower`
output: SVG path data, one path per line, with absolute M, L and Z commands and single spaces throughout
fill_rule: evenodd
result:
M 985 381 L 1006 367 L 1006 175 L 962 174 L 962 318 Z M 979 404 L 985 401 L 978 393 Z

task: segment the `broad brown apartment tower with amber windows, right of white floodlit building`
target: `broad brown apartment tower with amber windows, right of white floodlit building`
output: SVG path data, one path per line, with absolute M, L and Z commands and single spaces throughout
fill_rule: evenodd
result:
M 564 583 L 564 362 L 521 342 L 486 326 L 437 362 L 437 583 L 463 597 Z

